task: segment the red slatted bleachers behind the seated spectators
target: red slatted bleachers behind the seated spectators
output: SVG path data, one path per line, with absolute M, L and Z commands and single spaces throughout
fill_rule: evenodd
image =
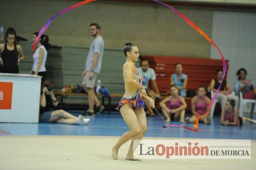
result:
M 150 61 L 150 67 L 155 70 L 156 82 L 160 92 L 166 92 L 170 87 L 170 76 L 175 73 L 175 64 L 183 65 L 183 73 L 187 74 L 187 91 L 197 90 L 202 84 L 207 88 L 210 81 L 216 77 L 216 70 L 223 68 L 222 60 L 210 58 L 191 58 L 191 57 L 175 57 L 175 56 L 149 56 L 143 55 L 141 59 L 146 58 Z M 228 70 L 228 62 L 227 70 Z M 152 88 L 151 83 L 149 88 Z M 188 108 L 190 108 L 190 100 L 186 98 Z

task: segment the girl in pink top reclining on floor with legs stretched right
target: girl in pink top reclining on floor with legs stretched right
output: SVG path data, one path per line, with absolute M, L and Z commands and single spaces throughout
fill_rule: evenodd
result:
M 221 112 L 221 124 L 222 125 L 242 125 L 246 121 L 256 124 L 256 120 L 253 120 L 249 117 L 240 117 L 238 116 L 237 109 L 234 109 L 235 101 L 228 100 L 225 104 L 224 109 Z

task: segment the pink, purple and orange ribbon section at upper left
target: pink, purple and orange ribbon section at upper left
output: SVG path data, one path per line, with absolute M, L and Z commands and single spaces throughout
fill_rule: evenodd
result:
M 96 1 L 96 0 L 85 0 L 85 1 L 79 2 L 78 4 L 72 5 L 68 8 L 66 8 L 66 9 L 64 9 L 63 11 L 55 14 L 53 17 L 51 17 L 50 20 L 47 21 L 46 24 L 41 28 L 36 40 L 32 44 L 32 49 L 35 51 L 35 47 L 36 47 L 36 43 L 37 43 L 38 39 L 41 37 L 41 35 L 44 33 L 44 31 L 49 27 L 51 21 L 54 20 L 54 18 L 58 17 L 59 15 L 61 15 L 63 13 L 66 13 L 66 12 L 68 12 L 68 11 L 70 11 L 70 10 L 80 6 L 80 5 L 88 4 L 88 3 L 93 2 L 93 1 Z

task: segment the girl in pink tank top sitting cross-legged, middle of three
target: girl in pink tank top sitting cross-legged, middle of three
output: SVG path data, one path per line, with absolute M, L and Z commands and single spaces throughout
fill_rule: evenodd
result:
M 205 124 L 211 123 L 211 116 L 203 116 L 209 108 L 211 100 L 206 96 L 206 89 L 204 86 L 200 86 L 197 90 L 197 96 L 192 98 L 191 100 L 191 111 L 192 116 L 186 117 L 185 121 L 187 123 L 195 123 L 197 119 L 197 115 L 199 114 L 199 122 L 203 122 Z

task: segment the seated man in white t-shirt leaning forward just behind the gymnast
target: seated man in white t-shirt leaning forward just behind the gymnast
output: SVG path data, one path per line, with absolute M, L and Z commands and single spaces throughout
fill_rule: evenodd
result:
M 160 93 L 159 93 L 159 90 L 158 90 L 158 87 L 157 87 L 157 84 L 156 84 L 156 74 L 155 74 L 155 71 L 149 67 L 149 61 L 147 59 L 143 59 L 141 61 L 141 67 L 139 67 L 139 72 L 142 74 L 143 76 L 143 80 L 142 80 L 142 85 L 144 86 L 146 92 L 147 92 L 147 95 L 149 97 L 151 97 L 154 101 L 156 101 L 156 97 L 161 97 Z M 151 80 L 152 82 L 152 85 L 155 89 L 155 91 L 149 89 L 148 85 L 149 85 L 149 80 Z M 150 115 L 150 116 L 154 116 L 155 113 L 153 112 L 152 110 L 152 107 L 149 105 L 149 102 L 146 101 L 145 102 L 146 104 L 146 107 L 147 107 L 147 115 Z

